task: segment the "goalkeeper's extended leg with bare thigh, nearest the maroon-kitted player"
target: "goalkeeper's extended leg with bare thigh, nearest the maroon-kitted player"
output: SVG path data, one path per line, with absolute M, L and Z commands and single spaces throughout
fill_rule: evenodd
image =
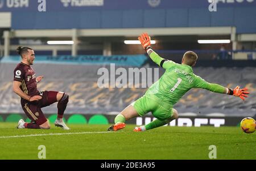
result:
M 119 113 L 115 117 L 115 125 L 109 127 L 108 131 L 118 131 L 125 128 L 125 121 L 138 117 L 138 113 L 135 110 L 133 105 L 127 106 L 127 108 L 123 109 L 121 113 Z

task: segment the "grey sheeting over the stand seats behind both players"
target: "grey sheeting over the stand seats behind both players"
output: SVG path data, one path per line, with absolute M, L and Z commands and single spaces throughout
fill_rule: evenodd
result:
M 129 68 L 131 67 L 144 69 L 147 71 L 147 74 L 151 74 L 147 69 L 151 69 L 151 67 L 156 68 L 157 72 L 159 72 L 159 77 L 164 72 L 162 68 L 158 68 L 152 63 L 149 65 L 146 61 L 146 57 L 143 56 L 142 61 L 139 61 L 137 57 L 126 56 L 126 58 L 132 58 L 132 60 L 137 62 L 137 66 L 131 61 L 125 61 L 119 63 L 119 65 L 117 64 L 114 70 L 113 67 L 110 67 L 111 61 L 96 64 L 93 62 L 72 63 L 70 60 L 63 60 L 64 62 L 58 63 L 49 60 L 46 63 L 46 61 L 40 61 L 41 57 L 38 58 L 38 63 L 35 63 L 33 68 L 38 74 L 45 76 L 44 81 L 39 84 L 39 89 L 59 89 L 64 92 L 69 92 L 70 99 L 67 108 L 67 113 L 69 114 L 118 113 L 127 105 L 131 104 L 131 102 L 141 97 L 148 86 L 154 82 L 154 80 L 152 80 L 151 84 L 148 84 L 147 78 L 141 78 L 139 88 L 100 88 L 98 87 L 98 83 L 102 74 L 100 74 L 99 71 L 102 68 L 108 69 L 109 74 L 115 73 L 119 68 L 125 69 L 129 74 Z M 146 61 L 146 63 L 143 61 Z M 22 109 L 19 108 L 19 97 L 14 95 L 11 88 L 13 69 L 16 66 L 14 62 L 18 63 L 18 60 L 10 61 L 8 58 L 3 58 L 0 62 L 0 97 L 2 99 L 0 111 L 3 113 L 22 113 Z M 139 66 L 138 63 L 141 63 L 141 65 Z M 65 67 L 63 67 L 63 65 Z M 194 72 L 208 82 L 218 83 L 230 88 L 234 88 L 237 85 L 248 87 L 251 93 L 250 100 L 241 103 L 240 99 L 236 99 L 232 96 L 214 94 L 203 89 L 192 89 L 175 105 L 175 108 L 181 115 L 187 112 L 195 113 L 197 116 L 204 116 L 210 113 L 222 113 L 224 116 L 241 116 L 242 114 L 253 116 L 255 114 L 255 67 L 200 66 L 195 67 Z M 114 76 L 115 80 L 119 77 L 117 74 Z M 130 76 L 131 75 L 125 75 L 128 80 Z M 136 73 L 135 76 L 145 77 L 145 75 L 142 75 L 142 72 Z M 108 78 L 110 78 L 110 75 L 108 75 Z M 110 81 L 106 83 L 110 84 Z M 147 84 L 147 87 L 142 88 L 142 84 Z M 48 114 L 55 113 L 55 110 L 56 106 L 54 105 L 44 109 Z

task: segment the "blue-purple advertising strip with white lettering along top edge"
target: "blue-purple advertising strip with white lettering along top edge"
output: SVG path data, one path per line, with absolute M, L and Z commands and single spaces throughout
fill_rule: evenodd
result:
M 131 10 L 152 8 L 208 8 L 213 0 L 0 0 L 0 11 Z M 256 6 L 256 0 L 215 0 L 219 7 Z

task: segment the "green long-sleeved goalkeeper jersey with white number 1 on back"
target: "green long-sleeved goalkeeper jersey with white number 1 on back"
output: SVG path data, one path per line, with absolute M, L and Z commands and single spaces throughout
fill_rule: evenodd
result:
M 218 93 L 226 91 L 225 87 L 208 83 L 200 76 L 193 74 L 191 66 L 167 61 L 154 51 L 150 54 L 150 58 L 166 71 L 157 82 L 148 88 L 146 92 L 148 97 L 155 96 L 157 99 L 174 105 L 191 88 L 204 88 Z

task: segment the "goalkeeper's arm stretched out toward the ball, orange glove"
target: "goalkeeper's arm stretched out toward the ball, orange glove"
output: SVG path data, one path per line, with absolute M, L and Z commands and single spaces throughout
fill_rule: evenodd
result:
M 225 93 L 228 95 L 237 96 L 240 97 L 242 100 L 245 100 L 245 98 L 248 97 L 247 95 L 249 94 L 247 88 L 240 89 L 239 86 L 234 89 L 226 88 L 219 84 L 208 83 L 204 79 L 200 78 L 200 76 L 196 76 L 195 87 L 208 89 L 209 91 L 216 93 Z

